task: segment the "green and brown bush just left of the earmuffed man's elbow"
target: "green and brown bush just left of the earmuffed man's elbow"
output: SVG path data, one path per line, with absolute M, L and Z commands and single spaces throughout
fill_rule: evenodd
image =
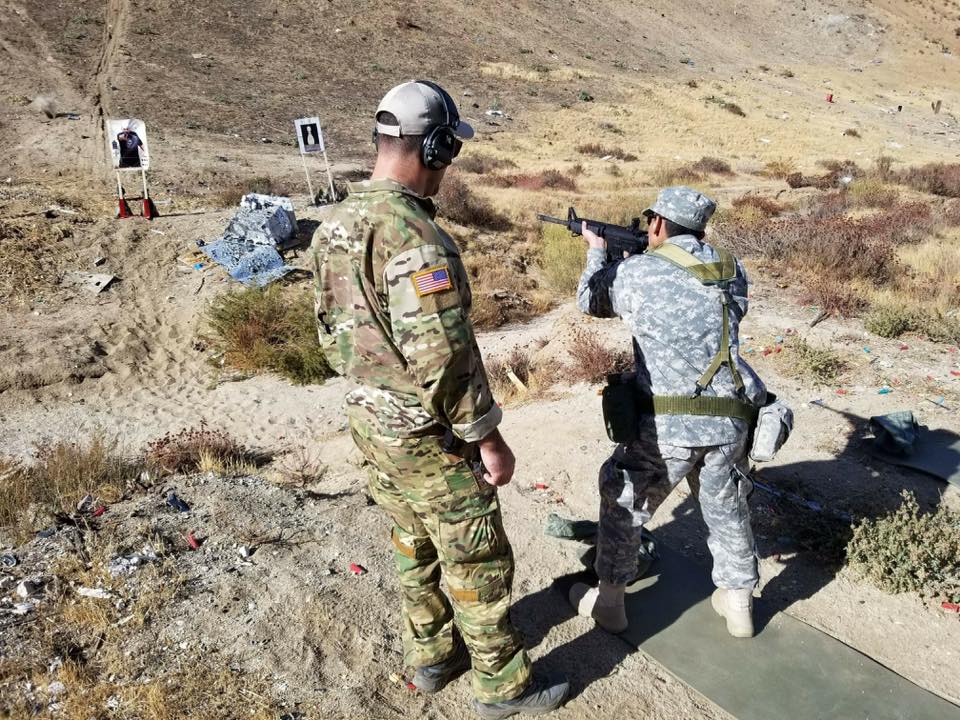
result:
M 313 297 L 302 288 L 270 285 L 214 298 L 203 341 L 211 362 L 244 372 L 275 372 L 296 385 L 322 383 L 333 373 L 317 340 Z

